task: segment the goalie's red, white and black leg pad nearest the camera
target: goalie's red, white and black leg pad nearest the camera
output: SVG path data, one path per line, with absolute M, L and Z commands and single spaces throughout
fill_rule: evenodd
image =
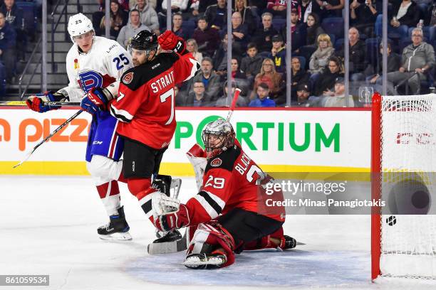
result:
M 216 250 L 219 248 L 223 250 L 217 252 Z M 234 263 L 233 249 L 233 237 L 222 225 L 217 222 L 202 223 L 198 225 L 190 242 L 187 259 L 195 255 L 199 257 L 198 254 L 205 255 L 204 257 L 219 254 L 225 256 L 224 264 L 219 265 L 219 267 L 228 267 Z

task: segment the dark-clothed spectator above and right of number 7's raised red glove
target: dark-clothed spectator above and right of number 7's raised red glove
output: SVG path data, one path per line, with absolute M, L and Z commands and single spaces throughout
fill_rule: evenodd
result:
M 198 50 L 207 56 L 214 55 L 219 46 L 219 33 L 217 29 L 210 28 L 205 17 L 199 17 L 198 28 L 195 28 L 192 38 L 197 41 Z

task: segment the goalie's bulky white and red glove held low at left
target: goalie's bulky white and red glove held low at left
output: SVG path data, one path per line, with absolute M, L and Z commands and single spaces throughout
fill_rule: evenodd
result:
M 190 224 L 186 206 L 163 193 L 153 195 L 152 211 L 155 227 L 162 232 L 180 229 Z

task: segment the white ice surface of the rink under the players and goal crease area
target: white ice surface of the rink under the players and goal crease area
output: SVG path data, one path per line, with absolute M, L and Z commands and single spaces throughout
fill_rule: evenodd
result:
M 183 178 L 182 201 L 194 183 Z M 227 269 L 192 270 L 180 264 L 182 252 L 146 254 L 155 230 L 125 185 L 133 240 L 105 242 L 96 228 L 107 217 L 90 177 L 2 176 L 0 184 L 0 274 L 49 274 L 50 286 L 36 289 L 436 289 L 435 281 L 414 279 L 370 283 L 367 215 L 288 216 L 285 233 L 306 245 L 243 252 Z

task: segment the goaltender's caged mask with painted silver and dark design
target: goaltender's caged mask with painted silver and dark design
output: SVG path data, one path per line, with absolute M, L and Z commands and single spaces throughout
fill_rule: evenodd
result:
M 210 122 L 203 129 L 202 139 L 207 159 L 217 156 L 222 151 L 234 146 L 234 130 L 232 124 L 224 119 Z

